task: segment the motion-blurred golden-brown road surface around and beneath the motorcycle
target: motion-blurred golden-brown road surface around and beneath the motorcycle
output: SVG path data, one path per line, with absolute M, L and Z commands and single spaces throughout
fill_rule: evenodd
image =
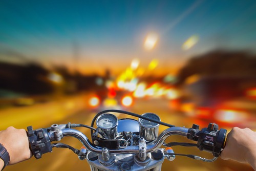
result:
M 9 125 L 17 128 L 24 128 L 32 125 L 34 129 L 40 127 L 49 127 L 53 123 L 82 123 L 91 124 L 91 120 L 97 112 L 89 110 L 86 103 L 87 94 L 70 96 L 61 98 L 56 101 L 35 104 L 32 106 L 24 106 L 18 108 L 10 108 L 0 110 L 1 125 L 0 130 L 6 129 Z M 176 126 L 191 127 L 193 123 L 200 124 L 200 127 L 207 126 L 206 122 L 187 118 L 181 114 L 170 112 L 168 101 L 163 99 L 137 100 L 135 105 L 130 109 L 130 112 L 143 114 L 146 112 L 156 113 L 161 120 Z M 124 117 L 120 115 L 118 117 Z M 166 129 L 165 126 L 160 126 L 159 132 Z M 230 127 L 225 127 L 230 131 Z M 253 128 L 252 128 L 253 129 Z M 89 136 L 88 129 L 79 129 L 85 135 Z M 90 138 L 89 138 L 90 139 Z M 18 140 L 17 140 L 18 141 Z M 179 141 L 191 142 L 184 137 L 174 136 L 168 138 L 166 142 Z M 67 143 L 76 148 L 80 148 L 81 144 L 78 140 L 72 137 L 65 137 L 61 140 L 62 143 Z M 15 143 L 15 142 L 14 142 Z M 205 158 L 211 158 L 207 152 L 201 152 L 195 147 L 174 147 L 175 153 L 195 154 Z M 240 164 L 232 161 L 224 161 L 218 159 L 213 163 L 193 160 L 186 157 L 177 156 L 172 162 L 165 160 L 162 165 L 162 170 L 253 170 L 247 164 Z M 79 160 L 77 156 L 68 149 L 53 148 L 53 152 L 44 154 L 41 159 L 34 158 L 16 165 L 11 165 L 5 170 L 27 170 L 27 171 L 45 171 L 45 170 L 90 170 L 86 161 Z

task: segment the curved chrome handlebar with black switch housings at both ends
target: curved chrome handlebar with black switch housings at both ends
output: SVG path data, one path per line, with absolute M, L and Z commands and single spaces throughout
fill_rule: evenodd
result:
M 225 135 L 226 135 L 226 131 L 224 129 L 221 129 L 218 132 L 219 134 L 217 135 L 217 137 L 214 137 L 216 135 L 212 135 L 212 132 L 209 132 L 207 129 L 206 130 L 203 129 L 202 131 L 199 131 L 200 133 L 197 132 L 193 136 L 195 132 L 194 129 L 187 129 L 185 127 L 170 127 L 164 130 L 157 137 L 157 139 L 155 139 L 154 141 L 152 141 L 150 144 L 147 145 L 146 153 L 151 153 L 156 151 L 158 148 L 161 147 L 161 145 L 163 145 L 166 138 L 172 135 L 180 135 L 180 136 L 188 137 L 189 139 L 192 139 L 192 140 L 193 138 L 191 137 L 197 137 L 197 138 L 194 138 L 194 140 L 197 139 L 196 141 L 198 141 L 198 148 L 200 150 L 206 150 L 213 153 L 214 152 L 213 148 L 218 148 L 218 149 L 223 148 L 224 146 L 223 139 L 225 140 Z M 102 147 L 93 145 L 86 135 L 84 135 L 83 133 L 75 129 L 66 129 L 66 128 L 61 129 L 60 131 L 58 131 L 58 134 L 59 134 L 58 135 L 56 134 L 56 130 L 49 131 L 49 129 L 38 129 L 33 131 L 32 126 L 30 126 L 28 127 L 28 132 L 29 132 L 31 151 L 33 152 L 33 155 L 36 158 L 41 158 L 42 154 L 52 151 L 50 142 L 55 140 L 60 140 L 63 137 L 68 137 L 68 136 L 77 138 L 89 151 L 98 153 L 98 154 L 102 153 Z M 191 134 L 191 132 L 193 132 L 193 134 Z M 61 138 L 59 139 L 59 137 Z M 210 140 L 210 141 L 214 140 L 216 141 L 216 145 L 214 144 L 214 142 L 210 142 L 206 140 Z M 125 148 L 109 150 L 111 154 L 136 154 L 138 153 L 138 151 L 139 151 L 139 146 L 127 146 Z M 218 157 L 219 154 L 220 154 L 220 151 L 219 153 L 214 152 L 215 157 Z

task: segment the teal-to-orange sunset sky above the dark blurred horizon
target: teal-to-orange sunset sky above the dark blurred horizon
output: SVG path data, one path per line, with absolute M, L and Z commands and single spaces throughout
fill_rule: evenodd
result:
M 189 58 L 214 49 L 254 53 L 255 9 L 254 0 L 1 0 L 0 61 L 91 74 L 119 73 L 134 58 L 146 68 L 157 59 L 154 73 L 176 73 Z M 156 41 L 148 50 L 150 34 Z M 189 38 L 194 44 L 184 48 Z

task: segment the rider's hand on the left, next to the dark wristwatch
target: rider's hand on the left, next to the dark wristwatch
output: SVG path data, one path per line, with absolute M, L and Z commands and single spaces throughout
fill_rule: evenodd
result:
M 24 129 L 15 129 L 10 126 L 0 131 L 0 143 L 4 145 L 10 155 L 10 163 L 15 164 L 32 157 L 29 149 L 29 140 Z

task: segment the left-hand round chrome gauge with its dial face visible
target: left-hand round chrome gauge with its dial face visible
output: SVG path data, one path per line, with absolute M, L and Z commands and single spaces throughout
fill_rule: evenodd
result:
M 99 132 L 106 135 L 108 139 L 115 139 L 117 137 L 118 119 L 113 114 L 102 114 L 96 120 L 96 125 Z

